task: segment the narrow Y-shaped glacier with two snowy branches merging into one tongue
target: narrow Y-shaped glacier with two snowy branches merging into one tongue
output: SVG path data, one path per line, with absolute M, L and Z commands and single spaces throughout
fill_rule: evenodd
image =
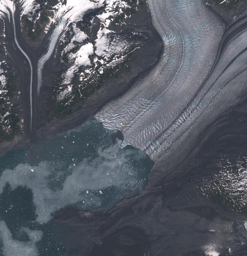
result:
M 38 3 L 32 3 L 34 9 L 40 6 Z M 105 6 L 104 0 L 90 1 L 90 0 L 67 0 L 58 1 L 53 8 L 54 17 L 51 19 L 51 23 L 46 28 L 48 33 L 44 34 L 42 45 L 37 49 L 30 49 L 30 45 L 27 42 L 19 38 L 21 35 L 21 28 L 18 27 L 17 20 L 19 16 L 27 15 L 30 18 L 29 3 L 26 0 L 11 1 L 0 0 L 0 16 L 11 24 L 13 29 L 13 37 L 16 48 L 26 58 L 30 69 L 30 84 L 29 84 L 29 102 L 30 110 L 26 113 L 26 123 L 29 124 L 29 129 L 26 129 L 26 136 L 35 136 L 36 130 L 36 118 L 37 118 L 37 106 L 40 95 L 40 88 L 42 86 L 42 72 L 45 63 L 51 58 L 51 55 L 55 52 L 58 46 L 59 39 L 63 36 L 64 32 L 69 28 L 69 25 L 76 27 L 76 23 L 80 21 L 83 15 L 88 10 L 94 10 Z M 36 7 L 35 7 L 36 6 Z M 17 9 L 17 11 L 16 11 Z M 31 11 L 32 12 L 32 11 Z M 34 14 L 34 13 L 33 13 Z M 31 15 L 32 16 L 32 15 Z M 28 18 L 28 19 L 29 19 Z M 78 28 L 77 28 L 78 30 Z M 12 31 L 11 31 L 12 32 Z M 83 32 L 82 32 L 83 33 Z M 81 34 L 82 34 L 81 33 Z M 25 50 L 26 49 L 26 50 Z M 11 54 L 11 53 L 10 53 Z M 33 55 L 33 56 L 32 56 Z M 37 59 L 36 59 L 37 57 Z M 26 72 L 26 71 L 25 71 Z M 23 85 L 25 86 L 25 85 Z M 36 93 L 37 91 L 37 93 Z M 30 123 L 29 123 L 30 118 Z

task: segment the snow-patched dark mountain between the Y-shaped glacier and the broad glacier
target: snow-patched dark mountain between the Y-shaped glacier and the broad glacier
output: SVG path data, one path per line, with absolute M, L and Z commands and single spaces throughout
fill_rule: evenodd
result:
M 38 34 L 42 42 L 46 42 L 48 35 L 50 42 L 38 63 L 39 70 L 42 70 L 40 101 L 44 101 L 42 105 L 49 106 L 47 112 L 42 109 L 41 116 L 64 118 L 68 113 L 70 115 L 88 105 L 86 101 L 89 97 L 92 102 L 96 101 L 94 104 L 98 108 L 125 91 L 130 81 L 154 65 L 159 57 L 161 43 L 152 30 L 146 2 L 82 2 L 84 9 L 74 14 L 72 8 L 73 15 L 66 13 L 63 18 L 61 10 L 70 9 L 70 3 L 56 4 L 51 8 L 53 12 L 47 19 L 45 29 Z M 32 21 L 34 33 L 42 13 L 39 19 Z M 25 22 L 28 23 L 28 19 Z M 53 24 L 56 24 L 57 30 L 50 34 Z M 33 43 L 31 37 L 26 36 L 26 40 Z M 90 109 L 90 113 L 93 114 L 96 108 Z

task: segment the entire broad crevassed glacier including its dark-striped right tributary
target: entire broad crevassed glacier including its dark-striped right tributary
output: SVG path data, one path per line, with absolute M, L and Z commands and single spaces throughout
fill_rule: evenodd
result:
M 174 168 L 196 146 L 199 134 L 241 100 L 247 29 L 242 19 L 225 31 L 202 1 L 148 4 L 163 38 L 163 57 L 148 77 L 96 117 L 106 127 L 121 130 L 125 144 L 151 156 L 151 185 L 158 177 L 177 175 Z

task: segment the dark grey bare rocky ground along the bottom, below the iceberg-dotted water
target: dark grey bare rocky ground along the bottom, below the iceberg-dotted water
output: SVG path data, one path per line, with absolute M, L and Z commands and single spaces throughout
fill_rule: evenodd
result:
M 117 214 L 66 209 L 55 221 L 58 227 L 69 227 L 70 239 L 67 234 L 59 238 L 67 245 L 83 246 L 83 256 L 211 256 L 239 250 L 246 239 L 245 220 L 226 212 L 227 218 L 221 218 L 222 209 L 215 211 L 205 198 L 191 193 L 200 201 L 198 206 L 185 191 L 181 195 L 170 188 L 170 193 L 149 194 Z

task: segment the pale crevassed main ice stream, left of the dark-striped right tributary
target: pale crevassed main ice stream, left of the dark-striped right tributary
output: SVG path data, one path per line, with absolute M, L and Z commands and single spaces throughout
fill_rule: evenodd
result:
M 122 130 L 125 145 L 143 150 L 176 119 L 179 127 L 188 118 L 184 110 L 212 71 L 225 28 L 201 1 L 149 0 L 148 5 L 154 26 L 163 38 L 163 58 L 147 78 L 140 79 L 123 97 L 96 114 L 106 127 Z M 167 40 L 171 34 L 177 36 Z M 182 45 L 178 43 L 181 39 Z M 180 53 L 184 55 L 182 61 L 177 57 Z M 171 60 L 167 60 L 169 55 Z M 155 154 L 147 152 L 156 159 Z

